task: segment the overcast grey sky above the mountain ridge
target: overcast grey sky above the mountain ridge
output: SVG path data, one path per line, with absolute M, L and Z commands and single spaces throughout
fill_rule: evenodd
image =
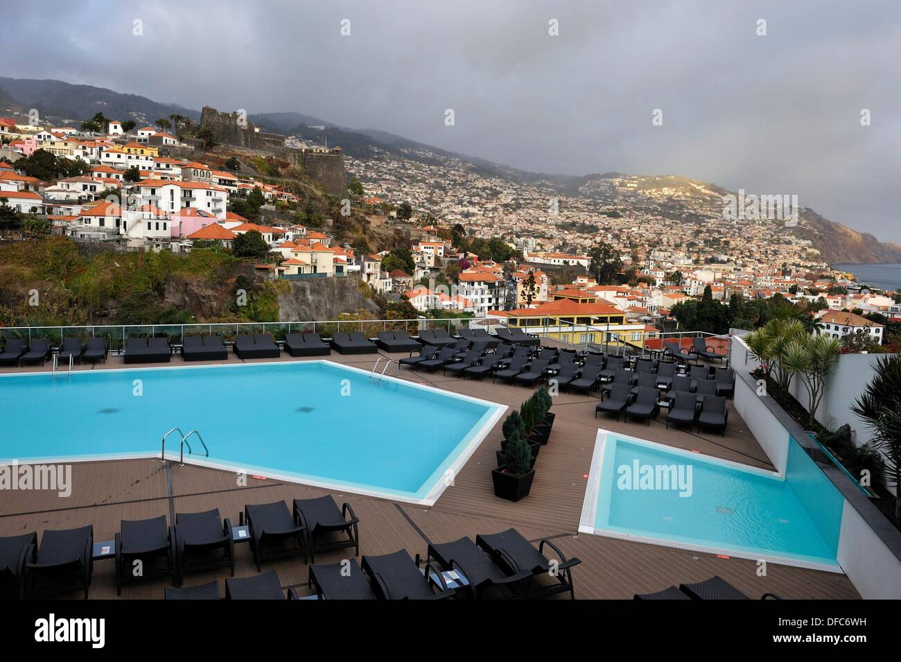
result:
M 39 1 L 5 23 L 5 76 L 294 110 L 535 171 L 795 194 L 901 242 L 897 0 Z

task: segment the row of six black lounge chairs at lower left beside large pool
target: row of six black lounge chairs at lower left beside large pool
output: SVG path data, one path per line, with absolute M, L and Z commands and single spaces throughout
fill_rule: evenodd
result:
M 338 508 L 331 496 L 295 499 L 294 512 L 285 502 L 247 505 L 244 509 L 250 549 L 260 564 L 275 558 L 352 547 L 359 555 L 359 530 L 349 503 Z M 332 534 L 343 534 L 335 540 Z M 44 597 L 84 591 L 87 599 L 94 568 L 94 528 L 44 531 L 0 538 L 0 598 Z M 182 584 L 190 573 L 227 567 L 234 576 L 232 522 L 218 510 L 179 512 L 175 524 L 166 516 L 127 521 L 115 534 L 116 590 L 135 581 L 171 576 Z M 141 561 L 140 576 L 132 575 Z

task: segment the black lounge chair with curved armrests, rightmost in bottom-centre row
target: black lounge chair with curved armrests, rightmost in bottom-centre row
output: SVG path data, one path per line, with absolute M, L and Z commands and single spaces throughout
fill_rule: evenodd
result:
M 576 592 L 572 585 L 572 567 L 578 566 L 581 561 L 576 558 L 566 558 L 551 540 L 544 538 L 539 542 L 538 549 L 531 542 L 523 538 L 523 534 L 515 529 L 507 529 L 500 533 L 492 533 L 485 536 L 476 536 L 478 547 L 485 549 L 495 563 L 500 567 L 506 567 L 511 573 L 526 570 L 532 576 L 552 576 L 556 580 L 551 585 L 536 585 L 534 581 L 529 586 L 528 597 L 537 598 L 545 595 L 569 593 L 572 600 L 576 599 Z M 554 550 L 557 561 L 544 556 L 544 546 Z M 554 575 L 551 575 L 551 572 Z

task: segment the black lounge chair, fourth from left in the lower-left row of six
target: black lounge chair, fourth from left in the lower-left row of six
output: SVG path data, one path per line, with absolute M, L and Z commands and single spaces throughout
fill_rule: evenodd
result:
M 178 512 L 172 527 L 175 545 L 177 584 L 185 575 L 200 570 L 228 567 L 234 576 L 232 522 L 214 509 L 206 512 Z

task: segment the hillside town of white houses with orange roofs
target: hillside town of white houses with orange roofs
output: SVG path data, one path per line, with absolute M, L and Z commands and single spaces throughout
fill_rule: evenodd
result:
M 863 315 L 901 320 L 897 297 L 834 271 L 780 223 L 725 222 L 721 197 L 703 186 L 686 193 L 669 178 L 657 186 L 623 176 L 559 195 L 550 183 L 513 183 L 431 152 L 347 158 L 357 195 L 346 201 L 405 237 L 405 245 L 358 255 L 328 225 L 285 222 L 278 207 L 296 204 L 296 194 L 205 163 L 204 150 L 195 153 L 169 126 L 101 117 L 79 128 L 39 127 L 2 118 L 2 203 L 45 220 L 52 233 L 119 250 L 231 249 L 253 232 L 268 249 L 257 265 L 262 276 L 359 277 L 417 313 L 469 314 L 564 342 L 613 334 L 640 345 L 684 328 L 674 311 L 704 296 L 723 304 L 778 296 L 809 308 L 820 332 L 866 333 L 878 344 L 884 325 Z M 79 174 L 43 181 L 16 168 L 41 153 L 68 159 Z M 637 202 L 596 195 L 605 188 L 630 190 Z M 260 203 L 253 221 L 234 211 L 249 196 Z M 686 213 L 696 222 L 677 217 Z M 479 255 L 469 241 L 476 237 L 500 241 L 503 258 Z

